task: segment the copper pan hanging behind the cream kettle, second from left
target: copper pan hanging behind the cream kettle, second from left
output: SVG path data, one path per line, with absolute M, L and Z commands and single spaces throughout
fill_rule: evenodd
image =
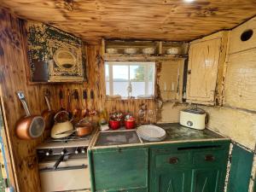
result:
M 46 90 L 44 92 L 44 99 L 48 109 L 45 109 L 42 113 L 42 117 L 44 118 L 44 122 L 45 122 L 45 130 L 49 130 L 55 123 L 55 120 L 54 120 L 55 112 L 50 108 L 49 95 L 50 95 L 49 90 Z

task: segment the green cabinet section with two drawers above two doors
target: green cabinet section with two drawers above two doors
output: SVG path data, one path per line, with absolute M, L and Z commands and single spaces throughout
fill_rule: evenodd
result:
M 230 142 L 150 148 L 150 192 L 223 192 Z

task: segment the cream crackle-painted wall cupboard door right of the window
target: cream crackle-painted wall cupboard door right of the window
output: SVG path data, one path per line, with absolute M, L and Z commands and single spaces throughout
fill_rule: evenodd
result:
M 228 32 L 218 32 L 189 45 L 187 102 L 221 105 Z

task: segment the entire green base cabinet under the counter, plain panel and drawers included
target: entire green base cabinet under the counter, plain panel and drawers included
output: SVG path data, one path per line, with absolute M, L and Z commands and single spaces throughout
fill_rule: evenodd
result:
M 223 192 L 230 141 L 92 148 L 92 192 Z

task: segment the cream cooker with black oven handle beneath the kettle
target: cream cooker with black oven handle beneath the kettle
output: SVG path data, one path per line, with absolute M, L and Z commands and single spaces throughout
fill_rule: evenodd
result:
M 90 191 L 86 152 L 91 137 L 50 138 L 37 147 L 42 192 Z

